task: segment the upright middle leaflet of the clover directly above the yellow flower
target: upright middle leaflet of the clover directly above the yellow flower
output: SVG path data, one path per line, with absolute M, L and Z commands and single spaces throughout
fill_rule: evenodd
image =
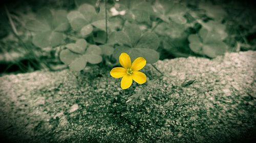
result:
M 123 32 L 126 33 L 126 35 L 129 37 L 133 46 L 137 43 L 141 36 L 140 28 L 136 24 L 125 25 Z

